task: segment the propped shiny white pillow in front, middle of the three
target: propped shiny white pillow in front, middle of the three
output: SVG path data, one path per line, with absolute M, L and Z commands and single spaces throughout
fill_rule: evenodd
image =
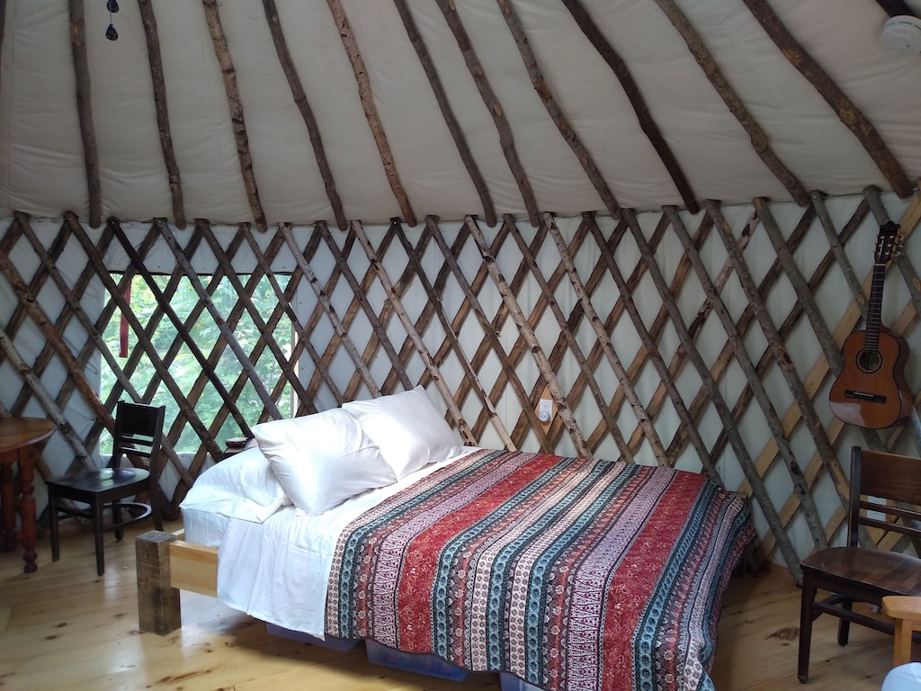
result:
M 252 433 L 294 505 L 312 516 L 397 479 L 373 440 L 341 408 L 263 422 Z

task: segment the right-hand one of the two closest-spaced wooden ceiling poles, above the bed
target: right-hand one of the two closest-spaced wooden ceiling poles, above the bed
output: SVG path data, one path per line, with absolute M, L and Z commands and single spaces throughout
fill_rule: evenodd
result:
M 521 165 L 518 149 L 515 147 L 515 137 L 512 135 L 512 128 L 508 124 L 502 104 L 495 95 L 493 88 L 489 85 L 483 64 L 473 51 L 473 44 L 467 35 L 466 29 L 463 28 L 454 0 L 436 0 L 436 4 L 445 16 L 445 21 L 448 22 L 451 33 L 454 34 L 454 39 L 458 42 L 458 48 L 461 50 L 464 63 L 467 64 L 467 69 L 473 78 L 473 83 L 479 89 L 486 110 L 489 111 L 493 118 L 495 129 L 499 135 L 499 144 L 502 146 L 502 153 L 505 154 L 508 169 L 511 170 L 515 182 L 518 182 L 521 199 L 524 202 L 525 209 L 528 211 L 530 225 L 537 228 L 541 225 L 540 208 L 534 198 L 534 191 L 531 189 L 528 175 L 524 170 L 524 166 Z

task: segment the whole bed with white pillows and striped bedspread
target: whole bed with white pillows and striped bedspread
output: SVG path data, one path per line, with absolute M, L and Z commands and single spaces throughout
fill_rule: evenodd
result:
M 257 447 L 200 476 L 161 599 L 206 591 L 517 688 L 713 687 L 754 536 L 739 497 L 670 468 L 461 447 L 422 389 L 336 411 L 256 426 Z

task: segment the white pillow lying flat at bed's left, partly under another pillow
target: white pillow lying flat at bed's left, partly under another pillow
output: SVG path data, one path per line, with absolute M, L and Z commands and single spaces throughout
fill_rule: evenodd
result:
M 200 474 L 182 500 L 182 509 L 212 510 L 245 521 L 265 521 L 290 504 L 262 451 L 247 449 Z

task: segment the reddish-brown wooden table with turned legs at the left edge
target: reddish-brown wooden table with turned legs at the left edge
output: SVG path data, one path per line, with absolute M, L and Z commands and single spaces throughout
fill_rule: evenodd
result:
M 26 561 L 23 570 L 31 573 L 35 564 L 35 465 L 42 442 L 54 433 L 54 423 L 41 417 L 0 418 L 0 504 L 3 506 L 3 545 L 9 552 L 16 548 L 16 490 L 13 487 L 13 464 L 19 468 L 19 518 Z

